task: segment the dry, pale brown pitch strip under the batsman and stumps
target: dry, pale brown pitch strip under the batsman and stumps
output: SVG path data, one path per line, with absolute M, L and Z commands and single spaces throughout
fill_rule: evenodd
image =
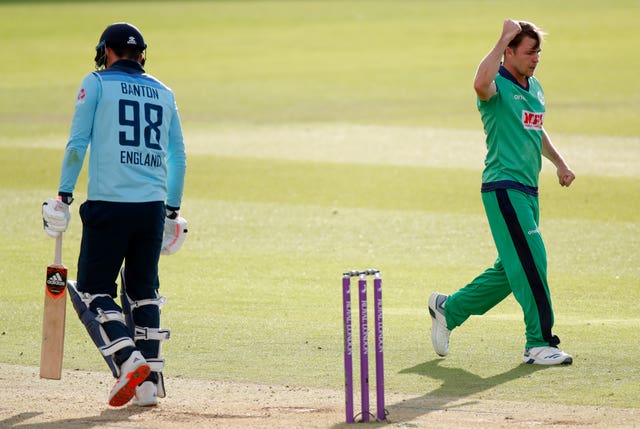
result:
M 156 408 L 111 408 L 111 374 L 0 364 L 0 428 L 344 428 L 343 392 L 169 378 Z M 613 409 L 387 393 L 390 428 L 634 428 L 639 409 Z M 357 425 L 356 427 L 363 427 Z

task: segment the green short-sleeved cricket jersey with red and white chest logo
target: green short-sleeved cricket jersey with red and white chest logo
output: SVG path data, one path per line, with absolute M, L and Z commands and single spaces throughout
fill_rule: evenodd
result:
M 544 92 L 538 80 L 529 78 L 524 89 L 504 68 L 495 78 L 497 93 L 478 99 L 478 110 L 487 136 L 487 156 L 482 188 L 515 188 L 537 195 L 542 167 Z

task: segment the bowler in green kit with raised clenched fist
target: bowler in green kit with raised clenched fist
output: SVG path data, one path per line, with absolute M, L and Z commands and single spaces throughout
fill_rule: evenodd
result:
M 561 186 L 575 179 L 543 126 L 544 92 L 533 76 L 543 34 L 530 22 L 505 20 L 498 42 L 476 72 L 474 89 L 487 146 L 481 195 L 498 258 L 456 293 L 430 296 L 431 340 L 440 356 L 449 353 L 453 329 L 513 294 L 524 313 L 524 363 L 573 362 L 558 348 L 560 338 L 553 333 L 547 255 L 539 229 L 542 156 L 556 167 Z

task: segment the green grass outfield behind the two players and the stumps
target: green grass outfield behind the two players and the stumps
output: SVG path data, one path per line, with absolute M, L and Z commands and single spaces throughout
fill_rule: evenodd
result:
M 122 14 L 116 11 L 123 11 Z M 0 2 L 0 362 L 38 365 L 56 192 L 75 92 L 114 21 L 176 92 L 189 238 L 161 261 L 176 377 L 342 386 L 340 277 L 384 278 L 390 391 L 640 407 L 640 44 L 637 1 Z M 505 17 L 549 33 L 546 128 L 578 179 L 546 162 L 542 233 L 571 367 L 521 365 L 513 298 L 437 359 L 426 301 L 495 258 L 479 186 L 471 81 Z M 76 190 L 85 197 L 86 172 Z M 64 260 L 75 276 L 74 204 Z M 65 368 L 106 370 L 71 305 Z M 373 363 L 371 363 L 373 366 Z

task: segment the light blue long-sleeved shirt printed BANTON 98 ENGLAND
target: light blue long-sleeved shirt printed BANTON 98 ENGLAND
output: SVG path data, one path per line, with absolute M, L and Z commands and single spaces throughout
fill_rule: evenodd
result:
M 73 192 L 89 146 L 88 200 L 180 207 L 186 154 L 175 97 L 137 62 L 84 77 L 59 192 Z

